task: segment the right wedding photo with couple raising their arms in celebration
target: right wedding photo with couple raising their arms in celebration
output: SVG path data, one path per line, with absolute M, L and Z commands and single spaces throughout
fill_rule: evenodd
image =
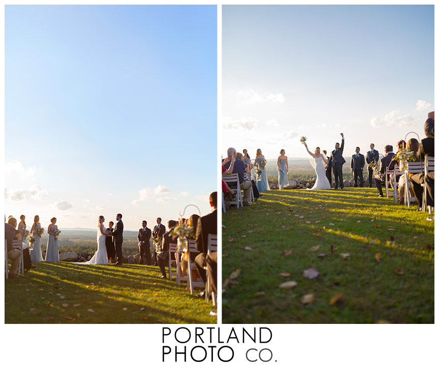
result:
M 434 323 L 434 6 L 227 5 L 222 42 L 222 322 Z

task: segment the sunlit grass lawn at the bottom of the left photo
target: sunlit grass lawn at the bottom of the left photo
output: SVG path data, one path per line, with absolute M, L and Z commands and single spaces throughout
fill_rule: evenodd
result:
M 216 323 L 211 302 L 158 267 L 36 264 L 5 280 L 5 323 Z

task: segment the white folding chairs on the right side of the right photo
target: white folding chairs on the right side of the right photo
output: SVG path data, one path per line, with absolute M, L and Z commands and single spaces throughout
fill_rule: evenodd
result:
M 417 174 L 417 173 L 424 173 L 424 181 L 425 181 L 425 176 L 429 173 L 429 172 L 433 172 L 434 171 L 434 157 L 431 156 L 425 156 L 425 160 L 422 162 L 412 162 L 409 161 L 407 162 L 409 170 L 405 171 L 405 172 L 401 172 L 398 171 L 395 167 L 394 170 L 389 170 L 388 167 L 386 167 L 386 181 L 385 181 L 385 185 L 386 185 L 386 198 L 389 198 L 389 196 L 393 195 L 393 201 L 397 202 L 398 199 L 400 198 L 399 194 L 398 194 L 398 176 L 402 176 L 405 175 L 405 190 L 404 190 L 404 204 L 407 205 L 410 208 L 410 203 L 413 203 L 415 201 L 415 198 L 410 196 L 410 192 L 409 189 L 412 186 L 412 182 L 409 180 L 409 173 L 412 174 Z M 389 191 L 389 181 L 390 181 L 390 174 L 393 173 L 393 192 L 392 194 L 390 194 Z M 427 200 L 426 200 L 426 189 L 427 189 L 427 185 L 423 184 L 423 188 L 424 188 L 424 194 L 422 196 L 422 211 L 425 212 L 426 206 L 427 206 Z M 428 212 L 431 214 L 431 207 L 428 206 Z

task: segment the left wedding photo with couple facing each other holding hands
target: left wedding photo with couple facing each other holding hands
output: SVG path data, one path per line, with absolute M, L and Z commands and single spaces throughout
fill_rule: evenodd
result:
M 216 323 L 216 126 L 216 6 L 5 6 L 5 323 Z

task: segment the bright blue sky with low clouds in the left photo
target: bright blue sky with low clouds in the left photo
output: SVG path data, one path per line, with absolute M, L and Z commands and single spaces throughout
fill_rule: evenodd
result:
M 5 213 L 210 212 L 216 37 L 216 6 L 6 6 Z

